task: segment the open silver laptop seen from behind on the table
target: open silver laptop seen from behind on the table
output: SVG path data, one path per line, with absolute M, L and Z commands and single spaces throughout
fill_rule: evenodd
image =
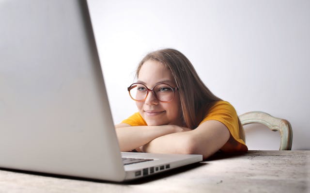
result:
M 120 152 L 85 0 L 2 0 L 0 23 L 0 168 L 120 182 L 202 161 Z

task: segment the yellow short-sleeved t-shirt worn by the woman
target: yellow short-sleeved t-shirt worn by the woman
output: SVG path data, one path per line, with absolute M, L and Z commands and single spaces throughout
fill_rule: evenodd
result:
M 204 116 L 200 124 L 208 120 L 217 120 L 223 123 L 231 133 L 230 139 L 221 147 L 221 151 L 248 151 L 247 145 L 240 137 L 238 115 L 229 102 L 222 100 L 217 101 Z M 147 126 L 140 113 L 134 113 L 129 118 L 122 121 L 122 123 L 126 123 L 130 126 Z

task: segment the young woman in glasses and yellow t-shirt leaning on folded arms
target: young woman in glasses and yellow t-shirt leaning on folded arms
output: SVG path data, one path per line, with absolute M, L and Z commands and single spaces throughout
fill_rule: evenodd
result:
M 233 106 L 211 93 L 185 55 L 160 49 L 140 62 L 128 87 L 139 112 L 115 126 L 122 151 L 202 154 L 247 151 Z

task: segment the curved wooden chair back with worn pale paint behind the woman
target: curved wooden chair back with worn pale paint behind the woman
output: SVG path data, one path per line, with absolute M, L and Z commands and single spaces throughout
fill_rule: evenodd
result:
M 273 131 L 279 131 L 281 144 L 279 150 L 291 150 L 293 131 L 290 122 L 285 119 L 271 116 L 264 112 L 248 112 L 239 116 L 242 126 L 250 123 L 261 123 Z

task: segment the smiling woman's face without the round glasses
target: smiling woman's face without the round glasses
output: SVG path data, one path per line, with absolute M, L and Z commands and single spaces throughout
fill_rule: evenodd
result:
M 172 88 L 176 83 L 171 71 L 165 65 L 148 60 L 142 64 L 138 74 L 138 82 L 152 89 L 158 83 L 166 83 Z M 170 102 L 161 102 L 153 92 L 149 92 L 144 101 L 136 101 L 137 107 L 143 119 L 149 126 L 157 125 L 182 125 L 181 103 L 179 92 L 174 92 L 174 98 Z

